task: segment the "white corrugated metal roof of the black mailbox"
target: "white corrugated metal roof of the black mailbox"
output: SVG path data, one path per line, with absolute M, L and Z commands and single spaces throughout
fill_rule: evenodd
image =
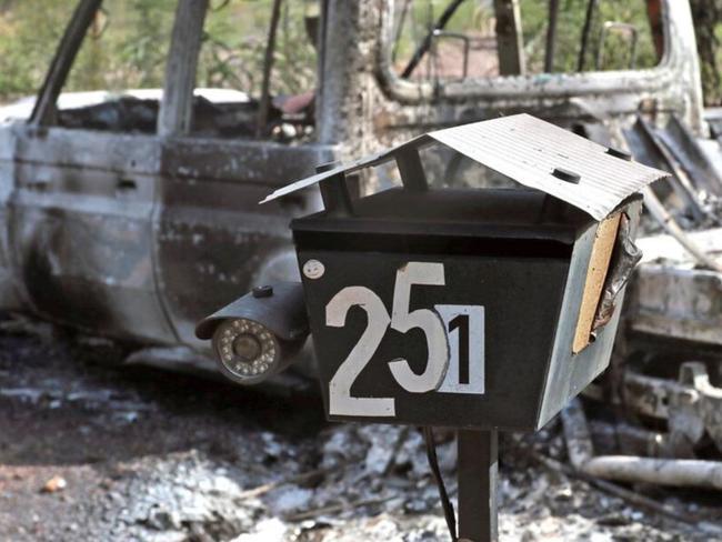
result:
M 403 148 L 442 143 L 529 188 L 559 198 L 602 220 L 625 198 L 669 173 L 609 153 L 606 147 L 530 114 L 473 122 L 429 132 L 407 143 L 297 181 L 262 203 L 311 187 L 339 172 L 383 163 Z M 579 175 L 570 182 L 553 174 Z

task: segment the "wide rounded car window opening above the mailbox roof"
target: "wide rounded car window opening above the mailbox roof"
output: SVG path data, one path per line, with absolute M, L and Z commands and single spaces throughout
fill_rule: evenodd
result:
M 663 50 L 660 0 L 399 0 L 390 64 L 404 80 L 653 68 Z

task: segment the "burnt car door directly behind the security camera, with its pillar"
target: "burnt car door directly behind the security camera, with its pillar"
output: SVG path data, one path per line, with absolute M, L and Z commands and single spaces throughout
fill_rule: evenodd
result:
M 288 224 L 317 205 L 315 198 L 304 194 L 262 207 L 258 202 L 333 157 L 329 145 L 314 141 L 285 144 L 192 133 L 203 32 L 198 13 L 207 4 L 207 0 L 179 2 L 167 66 L 168 99 L 159 116 L 162 142 L 153 217 L 159 294 L 180 342 L 198 350 L 208 349 L 194 334 L 205 314 L 253 285 L 297 280 Z M 198 47 L 192 64 L 189 42 Z

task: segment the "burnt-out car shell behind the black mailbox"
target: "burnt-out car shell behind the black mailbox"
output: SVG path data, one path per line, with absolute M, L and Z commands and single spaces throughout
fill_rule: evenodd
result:
M 102 4 L 81 0 L 30 116 L 0 128 L 0 305 L 195 360 L 210 353 L 194 337 L 201 318 L 297 278 L 288 223 L 319 195 L 259 207 L 268 193 L 324 162 L 520 111 L 671 170 L 648 194 L 671 209 L 664 224 L 719 220 L 719 148 L 686 2 L 579 2 L 578 19 L 558 7 L 540 19 L 517 0 L 310 3 L 307 92 L 269 90 L 282 77 L 280 2 L 258 96 L 194 89 L 213 8 L 179 0 L 162 91 L 68 106 L 63 84 Z M 507 182 L 452 152 L 422 159 L 444 185 Z M 354 190 L 397 182 L 378 168 Z

